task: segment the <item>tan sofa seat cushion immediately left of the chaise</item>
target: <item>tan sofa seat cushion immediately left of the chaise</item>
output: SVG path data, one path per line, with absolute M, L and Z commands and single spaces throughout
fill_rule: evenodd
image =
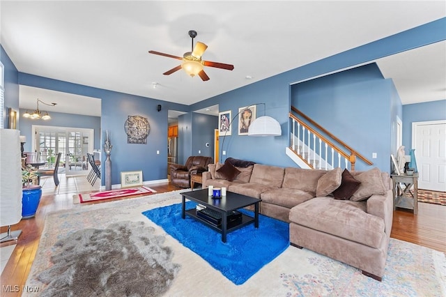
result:
M 266 192 L 261 193 L 260 198 L 262 199 L 262 203 L 293 208 L 302 202 L 314 198 L 314 196 L 312 193 L 304 192 L 302 190 L 280 188 L 267 190 Z

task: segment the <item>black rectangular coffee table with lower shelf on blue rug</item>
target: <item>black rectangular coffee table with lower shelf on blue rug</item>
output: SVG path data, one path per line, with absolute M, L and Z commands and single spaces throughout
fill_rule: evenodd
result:
M 226 243 L 226 234 L 231 231 L 235 231 L 241 227 L 246 226 L 247 224 L 254 223 L 254 227 L 259 228 L 259 202 L 261 199 L 236 194 L 233 192 L 226 192 L 226 197 L 222 197 L 221 199 L 213 199 L 213 197 L 208 196 L 208 189 L 205 188 L 203 190 L 196 190 L 190 192 L 182 192 L 182 209 L 181 209 L 181 217 L 183 219 L 186 218 L 186 215 L 194 218 L 195 220 L 199 220 L 206 224 L 208 227 L 219 231 L 222 234 L 222 241 Z M 222 214 L 222 224 L 220 226 L 216 226 L 215 224 L 211 224 L 203 218 L 197 216 L 196 208 L 186 210 L 186 199 L 191 201 L 195 201 L 199 204 L 203 204 L 207 208 L 218 211 Z M 254 218 L 249 215 L 242 214 L 242 220 L 239 224 L 234 226 L 227 226 L 227 215 L 229 215 L 232 211 L 236 211 L 240 208 L 244 208 L 246 206 L 254 204 Z

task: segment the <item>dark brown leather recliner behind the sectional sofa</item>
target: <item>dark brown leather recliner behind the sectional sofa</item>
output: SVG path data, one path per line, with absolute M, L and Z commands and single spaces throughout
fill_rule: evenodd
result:
M 190 156 L 185 165 L 169 165 L 170 181 L 181 188 L 190 188 L 190 175 L 201 174 L 208 171 L 208 165 L 213 163 L 213 158 L 202 155 Z

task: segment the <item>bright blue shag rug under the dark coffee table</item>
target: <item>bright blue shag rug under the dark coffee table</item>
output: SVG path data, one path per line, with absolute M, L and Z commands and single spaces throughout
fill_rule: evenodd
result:
M 197 204 L 188 201 L 186 209 Z M 242 210 L 254 217 L 254 213 Z M 142 213 L 161 226 L 167 234 L 220 271 L 234 284 L 243 284 L 289 246 L 289 224 L 259 215 L 259 229 L 254 224 L 222 234 L 190 217 L 181 218 L 181 204 L 151 209 Z

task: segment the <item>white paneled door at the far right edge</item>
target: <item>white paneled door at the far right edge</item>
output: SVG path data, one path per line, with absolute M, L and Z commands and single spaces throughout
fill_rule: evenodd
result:
M 446 192 L 446 121 L 412 124 L 418 188 Z

